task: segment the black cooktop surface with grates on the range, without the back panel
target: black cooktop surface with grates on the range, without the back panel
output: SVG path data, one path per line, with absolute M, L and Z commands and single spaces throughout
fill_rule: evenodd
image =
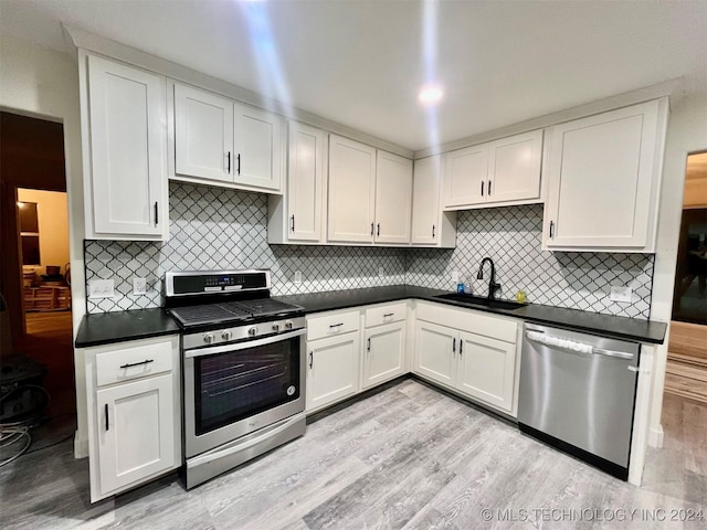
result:
M 294 316 L 303 312 L 300 306 L 286 304 L 273 298 L 224 301 L 222 304 L 202 304 L 169 309 L 169 312 L 184 327 L 246 324 L 263 321 L 267 318 Z

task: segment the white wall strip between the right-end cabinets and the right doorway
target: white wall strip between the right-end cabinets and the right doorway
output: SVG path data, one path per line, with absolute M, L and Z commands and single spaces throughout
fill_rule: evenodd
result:
M 663 186 L 658 209 L 658 234 L 653 276 L 651 319 L 671 321 L 677 243 L 683 213 L 683 191 L 687 155 L 707 149 L 707 89 L 680 100 L 671 109 L 663 166 Z M 654 447 L 663 444 L 661 412 L 667 358 L 668 336 L 656 348 L 651 407 L 651 439 Z

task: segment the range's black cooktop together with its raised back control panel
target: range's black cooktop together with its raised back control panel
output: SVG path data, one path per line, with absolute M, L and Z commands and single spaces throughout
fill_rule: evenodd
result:
M 270 288 L 270 271 L 165 274 L 167 308 L 184 329 L 239 326 L 304 312 L 300 306 L 271 298 Z

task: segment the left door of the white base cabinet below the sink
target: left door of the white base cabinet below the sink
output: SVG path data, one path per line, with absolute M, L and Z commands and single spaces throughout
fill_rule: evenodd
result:
M 415 324 L 415 373 L 433 381 L 454 384 L 458 332 L 436 324 Z

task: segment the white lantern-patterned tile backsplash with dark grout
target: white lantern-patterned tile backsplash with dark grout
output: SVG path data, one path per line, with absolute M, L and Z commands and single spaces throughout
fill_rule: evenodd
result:
M 87 299 L 88 312 L 159 307 L 163 273 L 183 269 L 270 268 L 274 295 L 404 283 L 452 289 L 457 271 L 485 295 L 487 279 L 476 273 L 489 256 L 502 298 L 523 289 L 537 304 L 650 316 L 653 255 L 541 252 L 541 204 L 460 212 L 454 250 L 293 246 L 267 244 L 266 195 L 177 182 L 169 191 L 169 241 L 84 242 L 86 282 L 114 278 L 116 293 Z M 147 278 L 147 295 L 131 294 L 134 277 Z M 612 284 L 631 286 L 632 301 L 610 301 Z

